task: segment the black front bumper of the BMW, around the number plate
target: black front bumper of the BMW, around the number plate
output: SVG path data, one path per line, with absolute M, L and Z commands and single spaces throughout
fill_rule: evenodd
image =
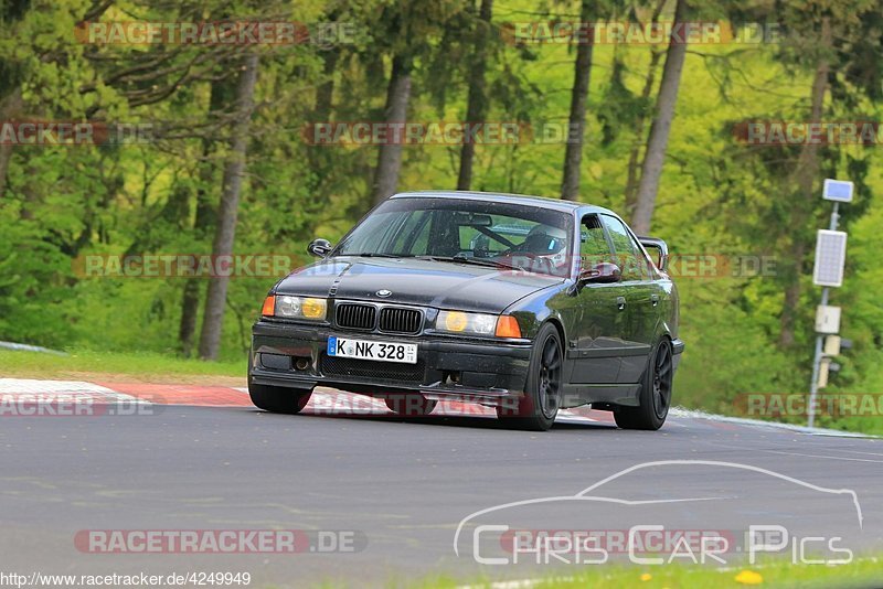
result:
M 330 335 L 416 343 L 417 364 L 328 356 Z M 374 334 L 260 320 L 252 330 L 248 382 L 295 389 L 323 385 L 379 397 L 416 390 L 427 398 L 498 405 L 523 394 L 530 354 L 528 340 Z

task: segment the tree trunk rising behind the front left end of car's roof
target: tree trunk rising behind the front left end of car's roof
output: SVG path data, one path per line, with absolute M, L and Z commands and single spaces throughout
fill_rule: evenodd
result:
M 384 122 L 402 122 L 407 117 L 407 101 L 411 98 L 411 62 L 409 58 L 396 55 L 393 58 L 393 68 L 390 74 L 390 85 L 386 90 L 386 109 Z M 381 203 L 395 194 L 398 188 L 398 172 L 402 170 L 402 141 L 404 129 L 394 133 L 392 128 L 387 140 L 380 146 L 377 168 L 374 171 L 373 200 Z M 397 136 L 398 135 L 398 136 Z

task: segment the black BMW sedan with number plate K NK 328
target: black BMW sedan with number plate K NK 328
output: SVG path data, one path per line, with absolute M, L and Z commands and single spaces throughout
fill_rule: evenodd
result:
M 298 413 L 321 384 L 409 416 L 479 403 L 533 430 L 586 404 L 623 428 L 666 420 L 683 351 L 668 250 L 606 208 L 404 193 L 308 250 L 319 261 L 277 282 L 253 328 L 262 409 Z

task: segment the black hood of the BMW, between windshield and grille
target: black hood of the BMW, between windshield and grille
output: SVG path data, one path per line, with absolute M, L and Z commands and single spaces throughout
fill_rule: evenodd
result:
M 279 281 L 276 292 L 500 313 L 517 300 L 563 281 L 448 261 L 336 257 L 295 270 Z M 392 294 L 380 297 L 380 290 Z

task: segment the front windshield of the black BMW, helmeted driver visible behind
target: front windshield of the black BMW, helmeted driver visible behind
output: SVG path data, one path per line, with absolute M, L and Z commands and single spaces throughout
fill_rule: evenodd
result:
M 422 257 L 567 276 L 571 215 L 539 206 L 391 199 L 337 247 L 337 256 Z

